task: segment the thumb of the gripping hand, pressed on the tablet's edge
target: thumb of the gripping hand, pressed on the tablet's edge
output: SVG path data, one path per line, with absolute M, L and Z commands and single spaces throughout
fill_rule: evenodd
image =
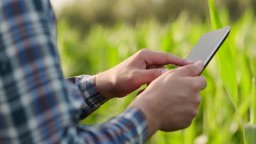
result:
M 198 61 L 194 64 L 185 65 L 184 67 L 178 68 L 175 73 L 178 76 L 198 76 L 202 73 L 203 68 L 203 62 Z

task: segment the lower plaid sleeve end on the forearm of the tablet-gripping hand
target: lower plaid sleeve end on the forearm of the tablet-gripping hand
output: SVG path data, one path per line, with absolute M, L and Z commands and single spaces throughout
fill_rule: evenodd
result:
M 137 108 L 100 125 L 78 125 L 77 130 L 88 143 L 145 143 L 148 133 L 146 117 Z

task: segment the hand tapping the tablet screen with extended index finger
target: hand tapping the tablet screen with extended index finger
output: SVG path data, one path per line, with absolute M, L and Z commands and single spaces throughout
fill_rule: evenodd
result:
M 171 53 L 143 49 L 112 69 L 96 75 L 96 86 L 106 98 L 125 97 L 167 71 L 165 65 L 191 64 Z

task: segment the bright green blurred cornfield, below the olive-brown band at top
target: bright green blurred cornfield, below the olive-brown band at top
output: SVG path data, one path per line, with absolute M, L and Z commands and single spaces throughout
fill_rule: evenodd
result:
M 164 23 L 154 18 L 136 21 L 133 25 L 124 21 L 114 22 L 112 26 L 94 23 L 86 33 L 73 28 L 71 22 L 59 19 L 58 44 L 63 73 L 66 77 L 95 75 L 143 48 L 185 58 L 202 34 L 219 26 L 214 9 L 211 12 L 212 19 L 210 13 L 200 19 L 184 10 Z M 218 15 L 222 25 L 232 29 L 224 46 L 202 74 L 208 86 L 201 92 L 199 115 L 189 128 L 173 133 L 158 131 L 147 143 L 243 143 L 242 124 L 256 123 L 254 10 L 246 9 L 235 21 L 226 8 L 218 9 Z M 100 124 L 118 115 L 140 89 L 126 98 L 109 100 L 82 123 Z

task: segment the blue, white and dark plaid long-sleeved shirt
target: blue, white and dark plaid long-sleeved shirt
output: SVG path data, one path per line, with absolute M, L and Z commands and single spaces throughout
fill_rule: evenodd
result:
M 95 76 L 64 79 L 49 0 L 0 1 L 0 143 L 144 143 L 142 111 L 76 125 L 106 98 Z

